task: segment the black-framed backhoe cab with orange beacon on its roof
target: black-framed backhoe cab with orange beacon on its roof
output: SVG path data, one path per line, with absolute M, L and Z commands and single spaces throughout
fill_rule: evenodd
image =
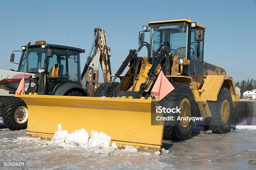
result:
M 35 73 L 39 80 L 40 77 L 42 77 L 41 79 L 46 77 L 46 83 L 40 83 L 43 87 L 38 87 L 39 94 L 53 95 L 56 88 L 64 82 L 81 84 L 80 53 L 84 50 L 47 44 L 46 41 L 36 41 L 34 45 L 28 44 L 21 48 L 22 55 L 18 71 Z

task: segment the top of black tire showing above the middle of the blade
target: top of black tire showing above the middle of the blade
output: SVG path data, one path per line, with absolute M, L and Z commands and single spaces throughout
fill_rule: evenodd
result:
M 113 97 L 119 82 L 105 82 L 101 84 L 94 93 L 94 97 Z

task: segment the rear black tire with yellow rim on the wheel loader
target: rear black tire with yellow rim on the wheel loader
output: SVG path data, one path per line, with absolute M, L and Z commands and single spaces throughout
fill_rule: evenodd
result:
M 218 95 L 218 100 L 208 101 L 207 103 L 212 117 L 205 121 L 205 130 L 212 130 L 212 133 L 228 133 L 233 115 L 233 102 L 230 91 L 223 87 Z M 225 112 L 225 109 L 228 109 L 229 113 L 228 110 Z M 225 117 L 222 115 L 225 115 Z

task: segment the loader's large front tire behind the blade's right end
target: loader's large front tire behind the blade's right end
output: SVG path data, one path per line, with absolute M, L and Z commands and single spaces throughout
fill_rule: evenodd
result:
M 181 104 L 186 101 L 190 104 L 190 117 L 195 117 L 195 99 L 190 87 L 183 83 L 172 83 L 174 90 L 170 92 L 159 104 L 166 108 L 181 107 Z M 189 102 L 188 102 L 189 101 Z M 182 114 L 182 113 L 181 113 Z M 164 125 L 165 140 L 187 140 L 189 139 L 193 130 L 193 121 L 186 122 L 186 125 L 182 125 L 183 122 L 177 121 L 179 114 L 174 114 L 175 121 L 173 125 Z M 186 116 L 185 116 L 186 117 Z

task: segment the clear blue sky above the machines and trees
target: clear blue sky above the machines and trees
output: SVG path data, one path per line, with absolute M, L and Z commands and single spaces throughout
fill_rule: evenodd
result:
M 36 40 L 85 49 L 84 67 L 93 30 L 100 27 L 115 72 L 137 49 L 142 25 L 181 18 L 206 25 L 205 61 L 225 67 L 235 81 L 256 79 L 256 0 L 0 0 L 0 69 L 17 69 L 10 53 Z

